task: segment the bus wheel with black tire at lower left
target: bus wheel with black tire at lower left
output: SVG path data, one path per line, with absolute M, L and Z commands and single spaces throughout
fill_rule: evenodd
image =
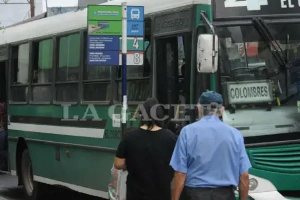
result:
M 42 185 L 33 180 L 32 162 L 28 149 L 25 149 L 22 154 L 21 175 L 26 199 L 37 200 L 41 196 Z

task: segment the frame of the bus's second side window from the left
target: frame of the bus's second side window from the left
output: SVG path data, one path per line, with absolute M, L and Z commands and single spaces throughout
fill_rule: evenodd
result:
M 48 39 L 52 39 L 53 40 L 53 57 L 52 57 L 52 82 L 50 83 L 32 83 L 32 70 L 33 70 L 33 59 L 36 58 L 34 57 L 34 50 L 33 50 L 33 45 L 35 45 L 36 43 L 39 43 L 39 42 L 42 42 L 42 41 L 45 41 L 45 40 L 48 40 Z M 30 60 L 31 60 L 31 63 L 29 65 L 29 75 L 30 75 L 30 79 L 29 79 L 29 88 L 28 88 L 28 98 L 29 98 L 29 104 L 32 104 L 32 105 L 51 105 L 53 104 L 53 101 L 54 101 L 54 94 L 55 94 L 55 82 L 54 82 L 54 78 L 55 78 L 55 74 L 56 74 L 56 52 L 55 52 L 55 49 L 56 49 L 56 45 L 57 45 L 57 37 L 56 36 L 46 36 L 46 37 L 42 37 L 42 38 L 38 38 L 36 40 L 32 40 L 31 41 L 31 48 L 30 48 Z M 38 57 L 37 57 L 38 58 Z M 32 86 L 51 86 L 51 100 L 50 101 L 33 101 L 32 100 Z

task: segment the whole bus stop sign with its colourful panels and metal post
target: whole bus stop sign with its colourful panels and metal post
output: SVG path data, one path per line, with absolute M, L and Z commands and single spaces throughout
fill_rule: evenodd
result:
M 88 5 L 87 65 L 122 67 L 122 111 L 113 113 L 113 127 L 126 133 L 127 65 L 143 65 L 144 7 Z M 94 74 L 97 78 L 98 73 Z M 110 116 L 111 117 L 111 116 Z M 105 136 L 104 136 L 105 137 Z

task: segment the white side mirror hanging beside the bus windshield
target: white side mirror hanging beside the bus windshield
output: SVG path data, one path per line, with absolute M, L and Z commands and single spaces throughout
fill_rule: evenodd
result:
M 199 73 L 214 73 L 218 66 L 218 37 L 200 34 L 197 42 L 197 70 Z

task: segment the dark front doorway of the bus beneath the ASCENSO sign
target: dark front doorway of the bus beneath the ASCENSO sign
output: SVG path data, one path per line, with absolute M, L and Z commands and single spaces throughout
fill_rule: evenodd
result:
M 190 97 L 191 35 L 159 38 L 156 45 L 157 98 L 169 106 L 165 114 L 179 121 Z

